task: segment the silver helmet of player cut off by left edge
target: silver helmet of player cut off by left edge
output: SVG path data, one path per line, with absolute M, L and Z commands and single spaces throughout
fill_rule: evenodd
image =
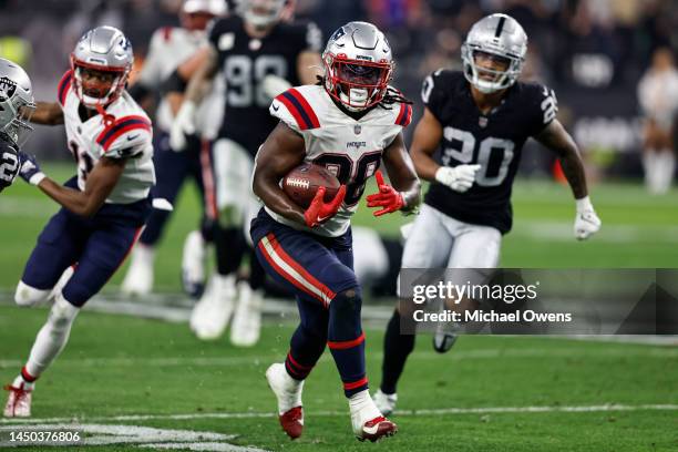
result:
M 33 111 L 35 102 L 28 74 L 19 64 L 0 58 L 0 133 L 21 146 L 33 131 L 29 125 Z

